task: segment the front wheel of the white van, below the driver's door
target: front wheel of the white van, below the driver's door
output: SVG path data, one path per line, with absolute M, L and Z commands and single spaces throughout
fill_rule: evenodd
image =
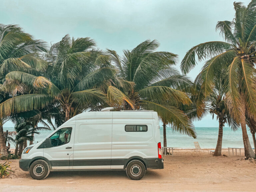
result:
M 36 160 L 29 167 L 29 174 L 33 179 L 45 179 L 50 173 L 50 167 L 45 160 Z

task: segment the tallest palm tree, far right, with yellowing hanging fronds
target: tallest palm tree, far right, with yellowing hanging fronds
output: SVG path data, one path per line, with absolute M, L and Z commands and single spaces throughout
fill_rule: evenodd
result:
M 256 50 L 256 1 L 246 7 L 241 2 L 234 2 L 235 18 L 233 21 L 219 21 L 216 30 L 226 42 L 211 41 L 192 47 L 181 62 L 181 70 L 188 73 L 195 65 L 195 56 L 199 61 L 206 61 L 205 97 L 214 87 L 214 76 L 222 69 L 226 70 L 226 103 L 231 117 L 240 124 L 243 133 L 245 156 L 255 157 L 246 130 L 245 110 L 256 118 L 256 82 L 254 68 Z

